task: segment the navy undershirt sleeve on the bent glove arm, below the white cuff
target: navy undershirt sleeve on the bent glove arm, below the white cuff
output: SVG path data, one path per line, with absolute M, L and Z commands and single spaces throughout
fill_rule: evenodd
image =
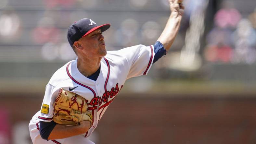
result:
M 57 123 L 55 123 L 54 121 L 51 122 L 43 122 L 40 121 L 40 135 L 43 139 L 48 140 L 48 137 L 50 135 L 50 133 L 52 132 L 53 128 L 56 126 Z

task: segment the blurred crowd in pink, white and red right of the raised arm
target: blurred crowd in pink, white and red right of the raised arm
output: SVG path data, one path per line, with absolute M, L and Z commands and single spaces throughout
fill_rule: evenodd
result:
M 207 34 L 204 57 L 220 64 L 256 62 L 256 8 L 242 16 L 232 1 L 224 1 L 214 16 L 214 27 Z

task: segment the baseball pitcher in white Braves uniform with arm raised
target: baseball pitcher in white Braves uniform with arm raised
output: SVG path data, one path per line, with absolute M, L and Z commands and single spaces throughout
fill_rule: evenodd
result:
M 77 55 L 59 68 L 45 87 L 39 110 L 29 123 L 33 144 L 94 144 L 87 139 L 128 78 L 147 75 L 170 49 L 183 15 L 183 0 L 169 0 L 172 11 L 153 45 L 106 51 L 102 32 L 89 18 L 73 23 L 68 42 Z

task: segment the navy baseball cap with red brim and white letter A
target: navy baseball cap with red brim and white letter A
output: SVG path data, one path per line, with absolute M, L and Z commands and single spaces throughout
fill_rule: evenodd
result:
M 104 24 L 97 26 L 96 23 L 89 18 L 83 18 L 74 22 L 68 30 L 68 41 L 72 47 L 75 41 L 78 41 L 80 38 L 88 35 L 96 29 L 101 29 L 101 32 L 108 30 L 110 24 Z

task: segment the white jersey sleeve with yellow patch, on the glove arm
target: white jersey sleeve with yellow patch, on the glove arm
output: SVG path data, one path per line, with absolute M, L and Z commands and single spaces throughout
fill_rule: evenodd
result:
M 52 121 L 54 114 L 53 103 L 57 96 L 58 90 L 53 85 L 48 83 L 45 87 L 45 96 L 41 106 L 41 113 L 38 116 L 38 119 L 40 119 L 40 121 Z

